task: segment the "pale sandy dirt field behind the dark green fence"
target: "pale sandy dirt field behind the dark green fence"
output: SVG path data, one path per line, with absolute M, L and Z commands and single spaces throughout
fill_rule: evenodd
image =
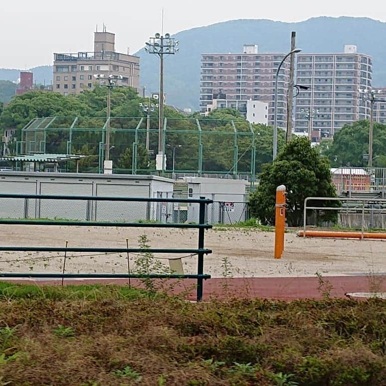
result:
M 65 226 L 1 226 L 0 245 L 137 247 L 146 234 L 151 247 L 196 248 L 197 230 L 163 228 L 87 228 Z M 274 233 L 248 229 L 213 229 L 205 232 L 205 247 L 213 250 L 205 257 L 204 272 L 222 277 L 222 259 L 231 263 L 233 277 L 323 276 L 379 274 L 386 272 L 386 241 L 303 239 L 285 235 L 285 253 L 273 259 Z M 127 255 L 80 256 L 69 253 L 67 273 L 126 273 Z M 131 254 L 134 267 L 135 255 Z M 157 257 L 167 257 L 158 255 Z M 168 260 L 162 259 L 168 264 Z M 196 256 L 183 259 L 185 273 L 196 273 Z M 61 272 L 62 253 L 0 252 L 2 272 Z

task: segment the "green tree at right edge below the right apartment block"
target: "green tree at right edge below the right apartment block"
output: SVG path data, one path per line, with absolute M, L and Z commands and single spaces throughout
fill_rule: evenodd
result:
M 373 133 L 373 165 L 382 167 L 386 156 L 386 125 L 374 123 Z M 368 159 L 364 155 L 369 153 L 369 121 L 345 125 L 335 133 L 332 142 L 323 145 L 321 151 L 334 167 L 367 166 Z

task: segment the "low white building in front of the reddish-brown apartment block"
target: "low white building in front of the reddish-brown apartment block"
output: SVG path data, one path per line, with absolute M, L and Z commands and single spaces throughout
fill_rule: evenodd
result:
M 268 125 L 268 102 L 213 99 L 212 103 L 206 106 L 205 115 L 208 115 L 213 110 L 225 108 L 238 110 L 250 123 Z

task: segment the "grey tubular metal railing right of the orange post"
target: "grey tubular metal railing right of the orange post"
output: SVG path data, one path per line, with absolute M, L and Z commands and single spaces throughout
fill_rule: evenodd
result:
M 347 202 L 359 202 L 362 203 L 360 206 L 350 206 L 347 208 L 342 207 L 331 207 L 331 206 L 307 206 L 308 201 L 347 201 Z M 341 210 L 341 211 L 350 211 L 358 210 L 362 213 L 362 239 L 365 232 L 365 213 L 366 212 L 386 212 L 386 208 L 367 208 L 365 206 L 366 202 L 379 202 L 385 203 L 386 198 L 344 198 L 344 197 L 307 197 L 304 200 L 304 212 L 303 212 L 303 238 L 306 238 L 306 227 L 307 227 L 307 209 L 311 210 Z

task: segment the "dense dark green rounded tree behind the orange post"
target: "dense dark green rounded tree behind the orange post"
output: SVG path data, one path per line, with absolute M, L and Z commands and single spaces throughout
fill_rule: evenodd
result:
M 250 195 L 249 205 L 252 215 L 264 225 L 274 224 L 276 188 L 282 184 L 287 188 L 287 222 L 290 226 L 301 225 L 306 197 L 336 197 L 328 160 L 321 157 L 306 138 L 294 138 L 273 164 L 263 167 L 259 186 Z M 336 201 L 318 201 L 315 206 L 339 204 Z M 318 220 L 336 219 L 335 211 L 318 213 Z

